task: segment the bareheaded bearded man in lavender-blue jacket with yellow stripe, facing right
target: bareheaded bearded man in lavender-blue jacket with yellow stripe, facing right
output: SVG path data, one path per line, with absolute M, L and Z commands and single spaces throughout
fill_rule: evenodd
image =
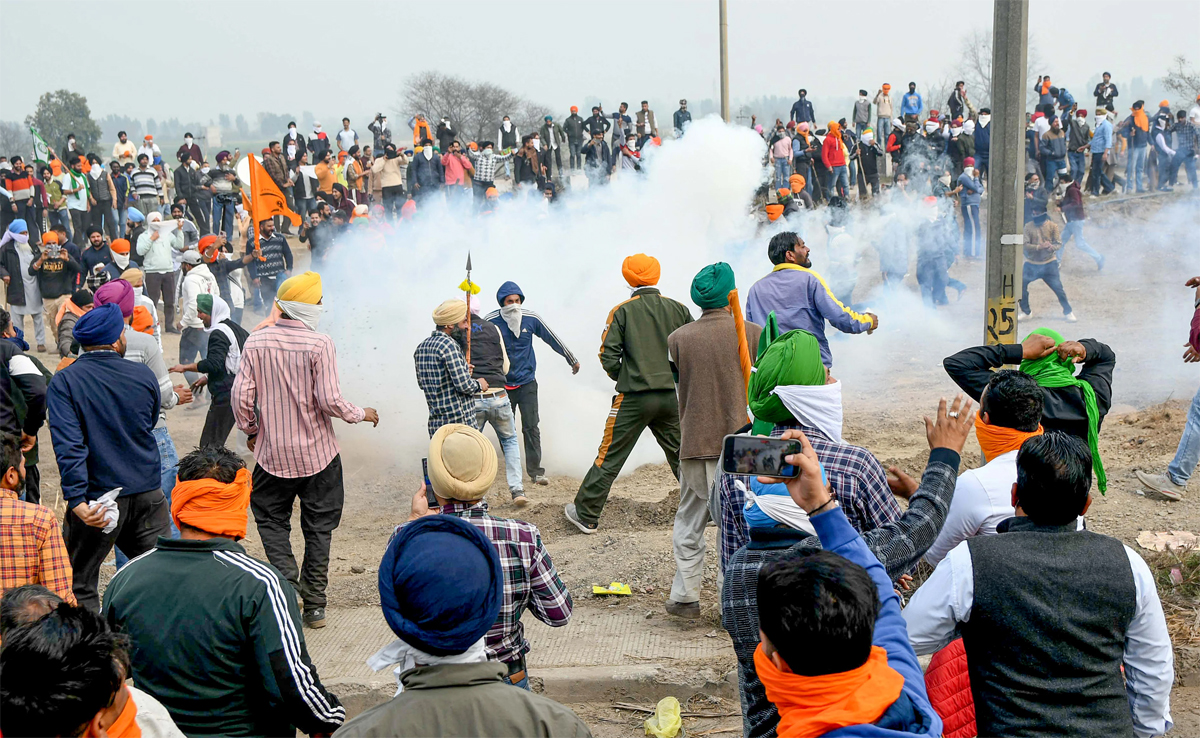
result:
M 880 325 L 874 313 L 857 313 L 834 298 L 824 278 L 812 270 L 809 247 L 794 232 L 775 234 L 767 247 L 775 268 L 746 295 L 746 319 L 764 325 L 774 312 L 782 331 L 802 328 L 821 343 L 821 360 L 833 366 L 824 323 L 847 334 L 872 334 Z

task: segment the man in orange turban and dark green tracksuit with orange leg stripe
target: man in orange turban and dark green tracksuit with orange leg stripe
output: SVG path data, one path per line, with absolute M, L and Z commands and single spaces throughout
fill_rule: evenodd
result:
M 654 287 L 661 274 L 654 257 L 628 257 L 620 271 L 634 294 L 608 313 L 600 341 L 600 366 L 617 383 L 617 395 L 595 463 L 588 467 L 575 502 L 564 509 L 566 520 L 588 535 L 596 532 L 608 490 L 647 426 L 666 454 L 671 473 L 679 478 L 679 401 L 667 336 L 691 323 L 691 312 Z

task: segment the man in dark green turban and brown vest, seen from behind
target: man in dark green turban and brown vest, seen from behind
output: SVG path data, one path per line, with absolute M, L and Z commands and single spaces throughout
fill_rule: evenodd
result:
M 703 312 L 667 337 L 679 396 L 679 509 L 671 535 L 676 575 L 666 610 L 678 617 L 700 617 L 704 527 L 720 520 L 713 494 L 716 463 L 725 436 L 746 424 L 745 370 L 757 354 L 762 326 L 744 323 L 743 340 L 743 322 L 733 316 L 740 306 L 730 301 L 736 295 L 728 264 L 701 269 L 691 281 L 691 300 Z

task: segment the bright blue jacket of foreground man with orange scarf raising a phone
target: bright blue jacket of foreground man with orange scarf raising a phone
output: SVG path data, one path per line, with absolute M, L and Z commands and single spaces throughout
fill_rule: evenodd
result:
M 900 598 L 888 580 L 880 559 L 866 547 L 863 536 L 850 526 L 840 508 L 809 518 L 826 551 L 866 569 L 880 589 L 880 614 L 875 619 L 874 646 L 888 652 L 888 666 L 904 677 L 900 697 L 884 710 L 876 724 L 850 725 L 829 731 L 824 738 L 895 738 L 899 736 L 941 736 L 942 719 L 934 712 L 925 694 L 925 676 L 917 654 L 908 643 L 908 629 L 900 614 Z

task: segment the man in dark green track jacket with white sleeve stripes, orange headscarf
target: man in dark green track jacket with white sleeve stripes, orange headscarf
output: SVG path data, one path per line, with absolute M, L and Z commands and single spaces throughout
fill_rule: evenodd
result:
M 222 446 L 180 460 L 160 538 L 104 593 L 108 623 L 130 640 L 131 676 L 188 736 L 331 733 L 346 719 L 305 648 L 295 592 L 246 554 L 251 474 Z M 179 637 L 206 624 L 204 635 Z

